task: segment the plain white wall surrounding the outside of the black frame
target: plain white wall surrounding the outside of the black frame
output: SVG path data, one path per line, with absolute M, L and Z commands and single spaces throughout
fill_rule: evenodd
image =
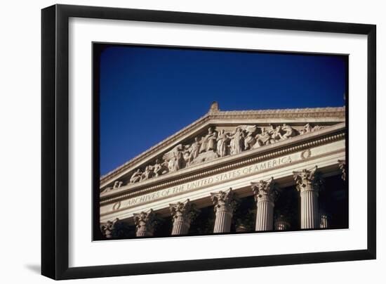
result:
M 383 1 L 62 1 L 61 4 L 254 15 L 273 18 L 363 22 L 378 27 L 378 146 L 385 143 L 386 18 Z M 48 283 L 40 276 L 40 9 L 54 1 L 3 1 L 0 17 L 0 210 L 2 283 Z M 364 110 L 364 115 L 365 115 Z M 386 193 L 380 178 L 385 148 L 378 147 L 378 259 L 366 262 L 307 264 L 255 269 L 171 273 L 76 280 L 81 283 L 382 283 L 386 265 Z M 365 189 L 364 189 L 365 191 Z M 383 226 L 382 226 L 383 225 Z M 207 250 L 216 248 L 207 247 Z M 224 248 L 226 249 L 226 248 Z M 369 279 L 369 276 L 371 279 Z M 383 280 L 382 280 L 383 279 Z

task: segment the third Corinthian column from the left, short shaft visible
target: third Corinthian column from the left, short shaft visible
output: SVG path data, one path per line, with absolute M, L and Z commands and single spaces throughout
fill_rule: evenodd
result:
M 199 210 L 194 207 L 189 199 L 185 202 L 170 204 L 173 217 L 172 235 L 186 235 L 189 233 L 190 222 L 197 216 Z

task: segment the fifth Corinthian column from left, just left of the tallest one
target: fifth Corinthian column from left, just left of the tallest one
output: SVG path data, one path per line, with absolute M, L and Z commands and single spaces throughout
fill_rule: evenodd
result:
M 268 181 L 251 183 L 257 206 L 256 231 L 272 231 L 274 226 L 274 201 L 277 187 L 272 177 Z

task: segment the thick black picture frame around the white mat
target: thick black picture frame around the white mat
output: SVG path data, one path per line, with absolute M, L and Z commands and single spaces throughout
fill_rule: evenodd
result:
M 367 249 L 69 268 L 70 17 L 367 35 Z M 92 6 L 44 8 L 41 11 L 41 273 L 60 280 L 375 259 L 375 72 L 375 25 Z

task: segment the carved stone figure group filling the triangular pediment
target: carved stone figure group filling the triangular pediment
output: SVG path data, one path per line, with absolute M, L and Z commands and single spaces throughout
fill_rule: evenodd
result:
M 288 124 L 270 124 L 268 127 L 258 125 L 239 125 L 233 130 L 208 127 L 203 136 L 196 136 L 189 143 L 180 143 L 173 147 L 155 162 L 138 168 L 131 174 L 129 183 L 138 183 L 157 178 L 170 172 L 192 167 L 220 157 L 237 155 L 247 150 L 264 147 L 284 141 L 294 136 L 308 134 L 321 129 L 307 123 L 304 127 L 293 127 Z M 121 186 L 121 184 L 120 184 Z

